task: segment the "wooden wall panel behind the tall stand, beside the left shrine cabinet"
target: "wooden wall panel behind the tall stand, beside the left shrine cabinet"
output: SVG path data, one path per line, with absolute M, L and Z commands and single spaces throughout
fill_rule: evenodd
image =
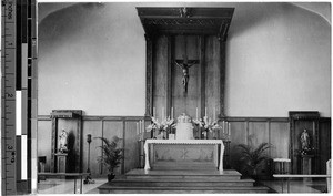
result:
M 83 162 L 83 171 L 88 169 L 88 152 L 89 144 L 87 142 L 87 135 L 91 134 L 91 143 L 90 143 L 90 164 L 89 168 L 92 176 L 100 175 L 101 164 L 98 162 L 99 156 L 101 156 L 102 151 L 99 146 L 101 146 L 101 140 L 95 137 L 102 136 L 102 121 L 83 121 L 83 130 L 82 130 L 82 162 Z

